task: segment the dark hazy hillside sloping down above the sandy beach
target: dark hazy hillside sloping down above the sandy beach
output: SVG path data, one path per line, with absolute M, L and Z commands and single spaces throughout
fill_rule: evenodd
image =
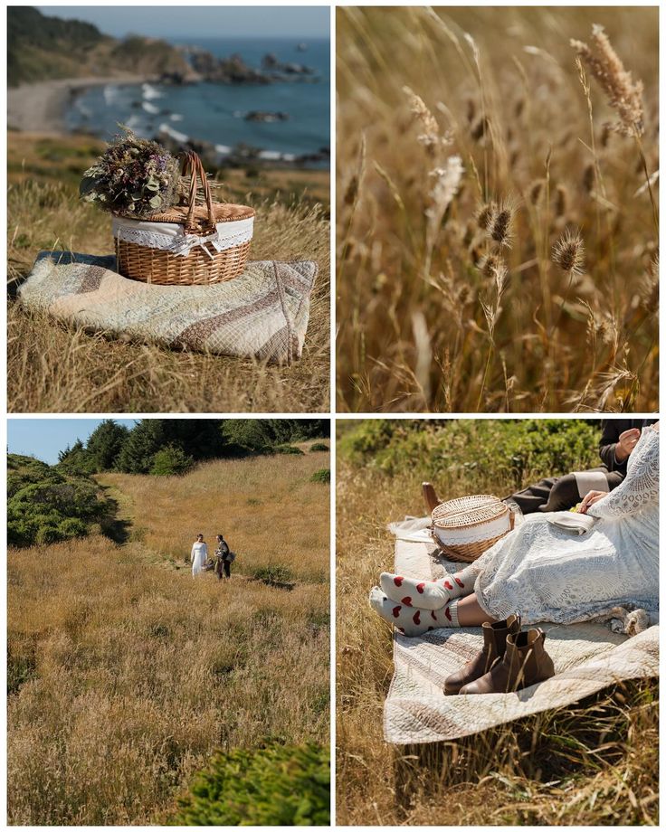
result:
M 169 43 L 129 37 L 118 41 L 79 20 L 62 20 L 30 6 L 7 14 L 7 83 L 56 78 L 136 74 L 191 74 L 183 55 Z

